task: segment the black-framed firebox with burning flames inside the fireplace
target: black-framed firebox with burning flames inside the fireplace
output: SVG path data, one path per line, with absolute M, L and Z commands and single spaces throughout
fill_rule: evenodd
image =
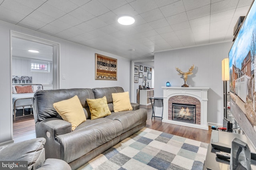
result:
M 172 103 L 172 120 L 196 124 L 196 105 Z

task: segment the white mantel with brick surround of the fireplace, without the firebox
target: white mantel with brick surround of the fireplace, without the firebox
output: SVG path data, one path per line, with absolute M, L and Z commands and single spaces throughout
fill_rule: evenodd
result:
M 164 90 L 164 106 L 163 106 L 163 120 L 165 123 L 172 123 L 175 125 L 182 125 L 187 127 L 193 127 L 198 129 L 208 130 L 207 124 L 207 102 L 208 102 L 208 87 L 162 87 Z M 180 100 L 182 98 L 182 100 Z M 175 101 L 176 99 L 180 101 Z M 172 107 L 172 102 L 184 102 L 184 104 L 193 104 L 191 102 L 196 102 L 196 110 L 200 110 L 200 113 L 196 113 L 196 116 L 200 116 L 197 119 L 196 124 L 186 123 L 181 121 L 172 120 L 172 112 L 170 112 L 170 107 Z M 199 106 L 200 105 L 200 106 Z

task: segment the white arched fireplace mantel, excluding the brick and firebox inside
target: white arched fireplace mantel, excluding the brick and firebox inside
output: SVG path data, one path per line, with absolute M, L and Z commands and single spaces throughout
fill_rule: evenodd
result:
M 163 120 L 165 123 L 172 123 L 175 125 L 182 125 L 187 127 L 194 127 L 198 129 L 208 130 L 207 124 L 207 102 L 208 102 L 208 87 L 162 87 L 164 90 L 163 101 Z M 168 119 L 168 100 L 172 96 L 191 96 L 197 98 L 201 103 L 201 123 L 185 123 L 181 121 L 173 121 Z

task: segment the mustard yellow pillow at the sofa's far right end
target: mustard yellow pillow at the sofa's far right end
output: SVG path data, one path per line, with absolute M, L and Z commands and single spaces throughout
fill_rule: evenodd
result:
M 129 92 L 112 93 L 114 112 L 132 110 Z

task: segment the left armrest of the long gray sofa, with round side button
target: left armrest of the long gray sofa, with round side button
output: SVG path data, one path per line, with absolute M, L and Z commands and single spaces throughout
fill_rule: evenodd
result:
M 71 123 L 58 118 L 48 118 L 36 122 L 36 137 L 44 137 L 45 157 L 61 159 L 61 145 L 55 138 L 72 132 Z

